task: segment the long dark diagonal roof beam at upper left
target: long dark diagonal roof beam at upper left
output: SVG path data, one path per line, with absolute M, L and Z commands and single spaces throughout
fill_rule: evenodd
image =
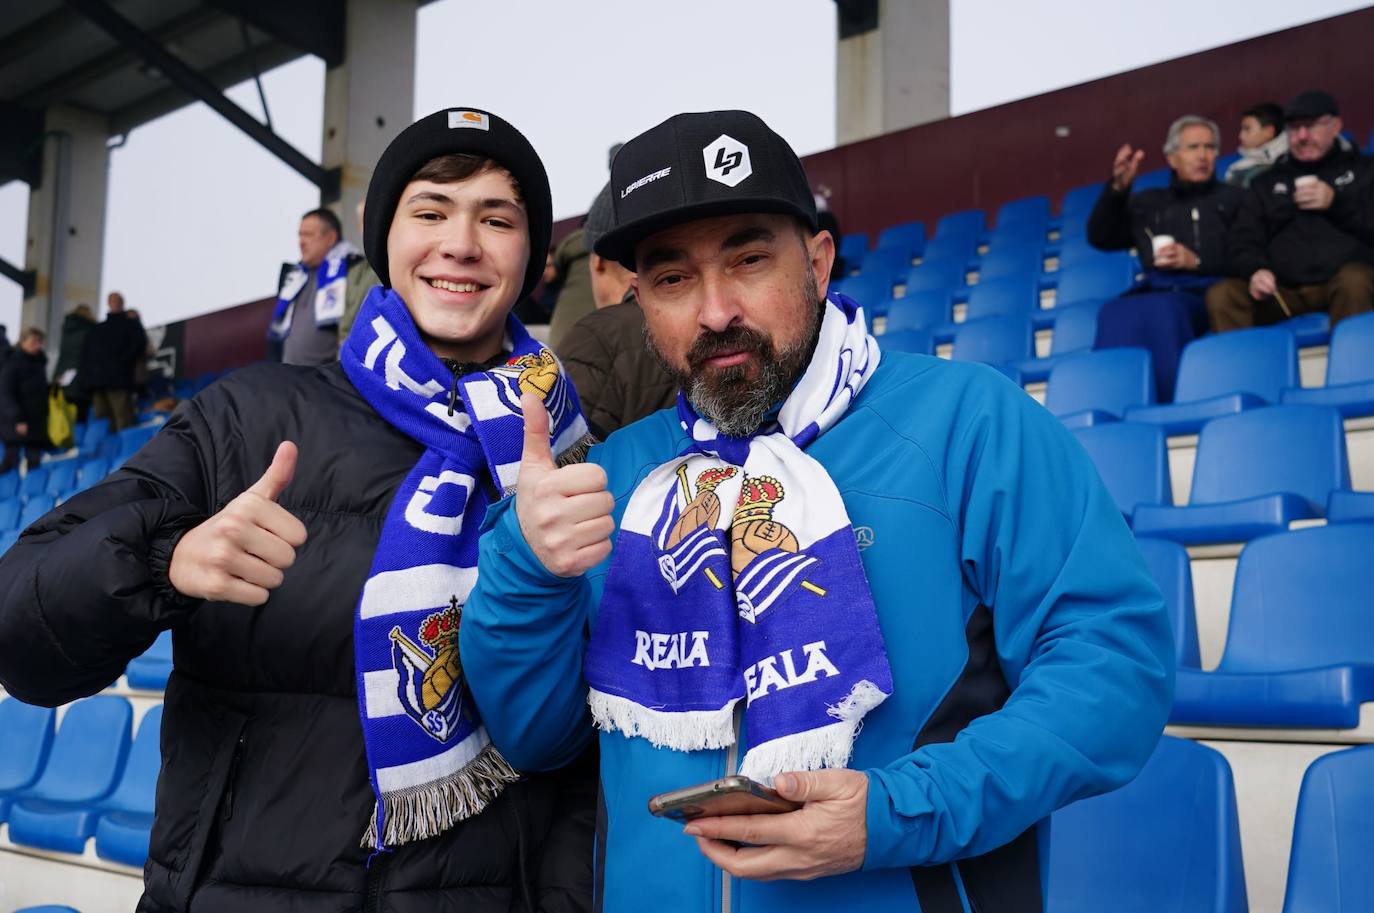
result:
M 192 98 L 205 102 L 217 114 L 247 133 L 267 151 L 276 155 L 283 164 L 320 188 L 320 198 L 333 201 L 339 192 L 338 169 L 324 169 L 311 161 L 308 155 L 287 143 L 275 132 L 258 122 L 251 114 L 231 102 L 216 87 L 216 84 L 181 62 L 180 58 L 164 48 L 155 38 L 139 29 L 133 22 L 125 19 L 104 0 L 66 0 L 67 6 L 84 15 L 93 25 L 99 26 L 110 37 L 125 48 L 133 51 L 143 60 L 155 67 L 162 76 L 170 80 Z

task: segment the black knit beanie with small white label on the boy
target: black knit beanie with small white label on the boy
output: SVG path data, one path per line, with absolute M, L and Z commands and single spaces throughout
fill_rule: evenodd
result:
M 420 166 L 440 155 L 466 153 L 485 155 L 499 162 L 519 184 L 529 221 L 529 265 L 519 297 L 528 296 L 544 274 L 548 239 L 554 234 L 554 204 L 548 191 L 548 175 L 539 153 L 523 133 L 489 111 L 477 109 L 445 109 L 422 117 L 401 131 L 382 153 L 367 186 L 367 205 L 363 209 L 363 252 L 386 287 L 392 274 L 386 263 L 386 236 L 392 231 L 396 205 L 401 191 Z

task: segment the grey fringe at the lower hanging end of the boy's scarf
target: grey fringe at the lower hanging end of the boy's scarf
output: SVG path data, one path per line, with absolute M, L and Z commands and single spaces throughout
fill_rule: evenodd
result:
M 382 796 L 386 804 L 385 846 L 394 847 L 444 833 L 459 821 L 480 814 L 519 780 L 519 773 L 502 758 L 495 745 L 484 748 L 455 774 L 420 786 Z M 363 848 L 376 848 L 376 810 L 363 835 Z

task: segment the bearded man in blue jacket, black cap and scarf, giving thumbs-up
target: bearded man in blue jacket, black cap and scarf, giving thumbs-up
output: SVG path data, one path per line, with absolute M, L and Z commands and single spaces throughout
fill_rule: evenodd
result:
M 525 406 L 466 679 L 517 769 L 600 729 L 599 909 L 1043 909 L 1047 815 L 1131 780 L 1164 601 L 1073 437 L 991 368 L 882 352 L 826 296 L 786 142 L 743 111 L 621 148 L 596 253 L 682 385 L 555 469 Z M 741 773 L 786 814 L 654 818 Z

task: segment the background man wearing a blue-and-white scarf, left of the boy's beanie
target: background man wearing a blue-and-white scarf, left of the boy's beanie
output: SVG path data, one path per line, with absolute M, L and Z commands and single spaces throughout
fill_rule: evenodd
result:
M 328 364 L 339 352 L 339 320 L 348 300 L 349 271 L 363 256 L 344 241 L 344 226 L 328 209 L 301 216 L 301 261 L 282 265 L 276 309 L 268 338 L 280 344 L 286 364 Z

